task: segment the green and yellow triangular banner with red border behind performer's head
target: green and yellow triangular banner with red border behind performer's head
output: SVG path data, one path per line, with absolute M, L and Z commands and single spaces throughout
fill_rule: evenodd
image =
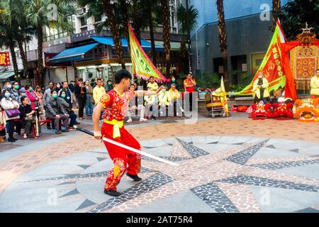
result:
M 150 79 L 154 77 L 156 82 L 166 82 L 166 78 L 153 65 L 150 58 L 140 46 L 130 23 L 128 23 L 128 33 L 130 35 L 130 57 L 133 65 L 133 74 L 142 79 Z

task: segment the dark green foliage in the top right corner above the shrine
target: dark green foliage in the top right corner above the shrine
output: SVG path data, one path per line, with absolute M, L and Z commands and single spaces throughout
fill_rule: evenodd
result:
M 301 28 L 312 27 L 314 33 L 319 33 L 319 0 L 294 0 L 281 7 L 278 12 L 281 26 L 288 40 L 296 40 Z

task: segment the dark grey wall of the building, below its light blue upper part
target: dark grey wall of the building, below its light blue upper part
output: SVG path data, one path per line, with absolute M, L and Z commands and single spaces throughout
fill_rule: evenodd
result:
M 272 18 L 272 16 L 270 16 Z M 250 55 L 257 52 L 266 52 L 272 38 L 269 27 L 272 21 L 261 21 L 259 13 L 226 21 L 228 38 L 228 70 L 233 71 L 232 56 L 247 56 L 247 72 L 251 72 Z M 192 68 L 196 74 L 216 72 L 218 66 L 213 65 L 213 59 L 221 57 L 218 41 L 217 22 L 203 26 L 191 37 Z M 197 45 L 197 53 L 196 53 Z M 197 62 L 197 55 L 198 62 Z M 233 57 L 234 59 L 234 57 Z M 218 62 L 218 61 L 217 61 Z

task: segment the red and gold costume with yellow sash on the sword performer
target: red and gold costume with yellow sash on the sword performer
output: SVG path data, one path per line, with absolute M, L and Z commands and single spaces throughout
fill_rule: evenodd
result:
M 105 138 L 140 150 L 141 147 L 138 140 L 126 131 L 123 126 L 125 111 L 128 109 L 129 101 L 133 96 L 134 92 L 127 91 L 121 95 L 113 89 L 101 97 L 99 103 L 104 108 L 101 134 Z M 114 163 L 113 169 L 108 172 L 104 189 L 116 190 L 116 186 L 123 177 L 125 170 L 130 175 L 138 175 L 141 155 L 106 141 L 103 142 Z

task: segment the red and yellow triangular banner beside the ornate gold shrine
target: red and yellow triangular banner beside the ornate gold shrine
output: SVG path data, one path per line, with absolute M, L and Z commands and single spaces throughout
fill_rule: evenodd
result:
M 259 66 L 252 82 L 245 87 L 245 89 L 241 92 L 237 92 L 235 95 L 252 95 L 252 84 L 254 84 L 255 79 L 258 78 L 257 75 L 259 72 L 262 72 L 269 82 L 268 92 L 279 89 L 279 87 L 285 87 L 286 76 L 284 74 L 281 43 L 285 43 L 284 32 L 281 29 L 279 21 L 277 21 L 272 41 L 270 42 L 267 53 L 262 60 L 262 65 Z

